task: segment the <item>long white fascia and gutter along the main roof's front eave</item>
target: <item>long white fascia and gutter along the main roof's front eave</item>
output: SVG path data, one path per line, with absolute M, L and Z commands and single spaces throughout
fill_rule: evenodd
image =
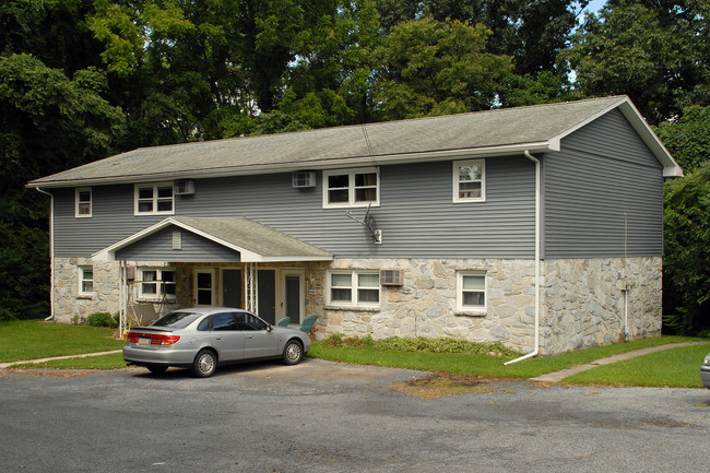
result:
M 288 163 L 267 163 L 245 166 L 216 167 L 210 169 L 186 169 L 169 173 L 154 173 L 127 176 L 109 176 L 87 179 L 64 179 L 47 182 L 31 182 L 27 187 L 42 186 L 44 188 L 62 188 L 76 186 L 105 186 L 114 184 L 141 184 L 154 182 L 158 180 L 177 180 L 177 179 L 209 179 L 214 177 L 229 176 L 251 176 L 269 173 L 293 173 L 296 170 L 322 170 L 332 169 L 343 166 L 372 166 L 384 164 L 409 164 L 417 162 L 447 161 L 459 157 L 493 157 L 502 155 L 522 154 L 523 151 L 559 151 L 559 145 L 555 140 L 540 141 L 532 143 L 517 143 L 501 146 L 466 147 L 458 150 L 426 151 L 421 153 L 402 153 L 375 156 L 355 156 L 355 157 L 336 157 L 327 159 L 313 159 Z

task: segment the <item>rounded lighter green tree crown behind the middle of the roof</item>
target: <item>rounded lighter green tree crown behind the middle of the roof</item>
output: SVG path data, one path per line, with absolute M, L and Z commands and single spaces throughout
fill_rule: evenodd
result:
M 485 52 L 490 31 L 460 21 L 400 23 L 375 51 L 374 93 L 384 120 L 485 110 L 512 74 L 512 59 Z

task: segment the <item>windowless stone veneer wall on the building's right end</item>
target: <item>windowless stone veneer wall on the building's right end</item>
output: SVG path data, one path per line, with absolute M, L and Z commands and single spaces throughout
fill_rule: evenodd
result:
M 662 258 L 555 259 L 543 262 L 540 345 L 543 355 L 659 336 Z

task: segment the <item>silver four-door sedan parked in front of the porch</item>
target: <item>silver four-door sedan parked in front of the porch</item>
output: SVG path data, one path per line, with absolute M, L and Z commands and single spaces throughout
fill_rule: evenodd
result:
M 193 307 L 132 328 L 123 359 L 154 374 L 174 366 L 206 378 L 217 366 L 247 360 L 281 358 L 296 365 L 309 350 L 308 334 L 298 329 L 272 326 L 244 309 Z

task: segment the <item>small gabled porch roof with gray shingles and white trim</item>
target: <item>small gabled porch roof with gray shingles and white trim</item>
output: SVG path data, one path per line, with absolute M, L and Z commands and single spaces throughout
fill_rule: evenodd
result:
M 204 241 L 218 251 L 210 252 L 210 246 L 174 249 L 169 238 L 162 230 L 170 227 L 191 234 L 185 245 Z M 190 241 L 193 241 L 190 244 Z M 229 259 L 240 262 L 280 262 L 280 261 L 331 261 L 333 256 L 312 245 L 277 232 L 267 225 L 246 217 L 185 217 L 173 216 L 144 228 L 122 240 L 93 255 L 98 260 L 131 260 L 128 255 L 140 248 L 140 260 L 212 262 Z

